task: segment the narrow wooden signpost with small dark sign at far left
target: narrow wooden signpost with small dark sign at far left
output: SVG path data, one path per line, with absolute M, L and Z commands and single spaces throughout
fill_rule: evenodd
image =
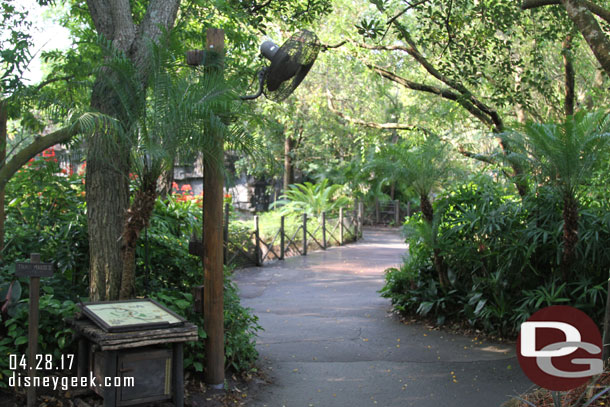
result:
M 40 278 L 53 275 L 52 263 L 41 263 L 40 254 L 30 254 L 30 262 L 15 263 L 15 275 L 17 277 L 30 278 L 30 313 L 28 318 L 28 377 L 30 387 L 27 390 L 27 407 L 36 406 L 36 352 L 38 352 L 38 308 L 40 298 Z

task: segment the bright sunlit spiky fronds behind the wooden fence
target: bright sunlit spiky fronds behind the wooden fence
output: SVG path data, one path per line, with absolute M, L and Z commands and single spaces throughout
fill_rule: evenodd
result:
M 283 215 L 306 213 L 319 217 L 322 212 L 336 212 L 349 205 L 350 200 L 342 194 L 342 189 L 342 185 L 328 185 L 326 179 L 317 184 L 305 182 L 291 185 L 273 206 L 279 206 Z

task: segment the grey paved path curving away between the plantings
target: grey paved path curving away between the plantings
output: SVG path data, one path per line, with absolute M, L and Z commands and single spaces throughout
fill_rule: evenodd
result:
M 249 406 L 499 406 L 530 387 L 514 346 L 405 325 L 377 293 L 406 251 L 397 231 L 237 273 L 265 329 L 273 383 Z

